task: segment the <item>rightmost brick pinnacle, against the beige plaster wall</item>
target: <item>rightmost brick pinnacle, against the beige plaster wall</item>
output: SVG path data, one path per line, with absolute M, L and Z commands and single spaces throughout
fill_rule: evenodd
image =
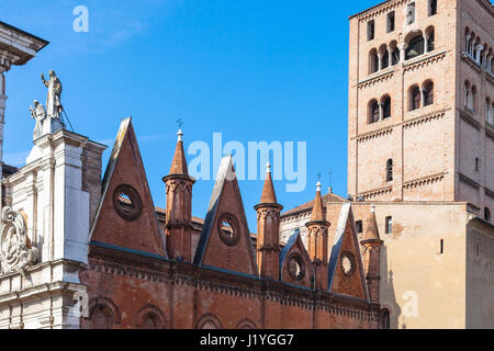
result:
M 375 220 L 375 206 L 372 206 L 367 229 L 360 244 L 363 247 L 363 263 L 366 271 L 369 298 L 373 303 L 379 303 L 380 253 L 383 241 L 379 238 L 378 223 Z

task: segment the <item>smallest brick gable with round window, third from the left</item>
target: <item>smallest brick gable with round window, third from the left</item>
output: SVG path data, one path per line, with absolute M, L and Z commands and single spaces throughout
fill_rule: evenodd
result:
M 280 253 L 280 274 L 285 283 L 313 288 L 314 268 L 296 229 Z

